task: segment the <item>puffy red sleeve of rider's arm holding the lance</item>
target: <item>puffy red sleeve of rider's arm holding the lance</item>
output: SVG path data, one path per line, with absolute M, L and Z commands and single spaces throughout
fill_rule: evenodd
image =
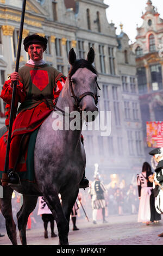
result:
M 11 80 L 5 81 L 0 97 L 11 104 L 12 100 L 12 88 L 10 87 Z M 24 92 L 23 84 L 19 81 L 17 84 L 17 92 L 15 98 L 15 106 L 17 106 L 18 102 L 23 102 L 26 99 L 26 92 Z

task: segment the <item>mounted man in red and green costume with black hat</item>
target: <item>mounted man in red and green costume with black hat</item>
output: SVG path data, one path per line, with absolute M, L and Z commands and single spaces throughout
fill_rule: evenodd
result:
M 29 60 L 18 72 L 13 72 L 10 79 L 4 83 L 1 98 L 7 102 L 7 120 L 9 125 L 10 105 L 13 83 L 17 82 L 15 108 L 21 103 L 15 114 L 12 125 L 11 144 L 9 154 L 9 184 L 18 184 L 17 174 L 18 153 L 22 149 L 22 141 L 29 141 L 30 134 L 38 129 L 48 115 L 53 111 L 57 98 L 64 86 L 66 77 L 60 71 L 48 65 L 43 60 L 48 40 L 33 34 L 24 41 L 24 50 L 29 54 Z M 26 135 L 26 136 L 24 136 Z M 4 171 L 5 152 L 8 132 L 0 139 L 0 171 Z M 22 169 L 26 168 L 22 166 Z M 24 169 L 23 169 L 24 170 Z M 80 187 L 89 186 L 89 181 L 83 177 Z

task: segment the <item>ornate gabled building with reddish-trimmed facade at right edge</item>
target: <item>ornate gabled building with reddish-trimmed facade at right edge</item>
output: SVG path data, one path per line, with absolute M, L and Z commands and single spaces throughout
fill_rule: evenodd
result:
M 151 0 L 147 1 L 142 19 L 132 48 L 136 54 L 144 147 L 148 156 L 146 122 L 163 120 L 163 20 Z

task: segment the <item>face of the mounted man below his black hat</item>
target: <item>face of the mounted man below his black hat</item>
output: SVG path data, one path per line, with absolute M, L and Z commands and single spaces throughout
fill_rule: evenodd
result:
M 43 47 L 42 45 L 29 45 L 28 47 L 28 54 L 30 59 L 37 62 L 38 60 L 42 59 L 43 56 Z

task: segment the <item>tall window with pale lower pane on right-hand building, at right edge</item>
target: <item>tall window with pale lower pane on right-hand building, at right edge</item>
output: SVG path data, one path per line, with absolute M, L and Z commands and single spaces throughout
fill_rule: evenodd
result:
M 150 66 L 151 70 L 151 81 L 152 81 L 152 90 L 161 90 L 162 89 L 162 74 L 161 74 L 161 65 L 152 65 Z

